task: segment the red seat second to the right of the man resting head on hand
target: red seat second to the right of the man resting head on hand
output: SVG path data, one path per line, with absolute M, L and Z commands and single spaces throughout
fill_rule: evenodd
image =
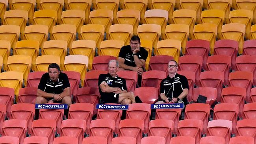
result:
M 198 55 L 184 55 L 180 57 L 178 63 L 178 70 L 188 70 L 195 72 L 196 85 L 199 84 L 199 76 L 202 71 L 203 58 Z

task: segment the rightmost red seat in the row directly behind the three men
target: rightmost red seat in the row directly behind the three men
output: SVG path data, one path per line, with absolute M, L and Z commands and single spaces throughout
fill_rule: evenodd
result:
M 252 72 L 237 71 L 231 72 L 228 77 L 231 87 L 242 87 L 246 89 L 246 102 L 250 102 L 250 89 L 252 89 L 253 74 Z

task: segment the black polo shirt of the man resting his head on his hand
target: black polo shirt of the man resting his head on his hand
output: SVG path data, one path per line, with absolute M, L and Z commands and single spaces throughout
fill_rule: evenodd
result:
M 139 59 L 144 59 L 146 61 L 148 57 L 148 51 L 143 47 L 139 47 L 139 52 L 136 54 Z M 130 45 L 123 46 L 119 52 L 119 57 L 124 58 L 124 64 L 128 66 L 136 66 L 134 61 L 134 56 L 132 54 L 132 49 Z

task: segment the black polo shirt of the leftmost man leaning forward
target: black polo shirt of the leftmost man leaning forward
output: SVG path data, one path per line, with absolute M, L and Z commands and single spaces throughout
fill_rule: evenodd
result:
M 43 74 L 38 89 L 41 89 L 47 93 L 60 94 L 67 87 L 70 87 L 67 74 L 60 72 L 59 79 L 56 82 L 51 81 L 48 72 Z

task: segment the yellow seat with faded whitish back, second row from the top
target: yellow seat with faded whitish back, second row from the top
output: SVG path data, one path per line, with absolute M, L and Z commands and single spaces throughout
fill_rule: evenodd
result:
M 161 38 L 165 37 L 165 27 L 168 22 L 168 11 L 163 9 L 151 9 L 145 12 L 146 24 L 158 24 L 161 26 Z

